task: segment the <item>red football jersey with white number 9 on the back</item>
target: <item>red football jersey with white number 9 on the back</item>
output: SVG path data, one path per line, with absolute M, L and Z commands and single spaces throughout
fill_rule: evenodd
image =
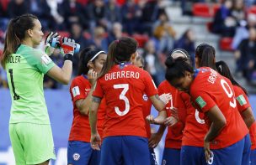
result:
M 235 93 L 230 80 L 221 76 L 209 67 L 202 67 L 195 73 L 195 80 L 189 89 L 191 99 L 203 113 L 213 106 L 218 106 L 226 117 L 227 125 L 211 142 L 211 149 L 220 149 L 231 146 L 248 134 L 248 128 L 237 111 Z M 208 126 L 211 123 L 205 116 Z

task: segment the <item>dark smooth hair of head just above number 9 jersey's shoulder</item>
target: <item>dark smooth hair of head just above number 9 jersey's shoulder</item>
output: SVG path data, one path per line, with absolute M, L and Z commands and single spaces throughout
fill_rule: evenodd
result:
M 210 44 L 200 44 L 195 49 L 195 57 L 200 60 L 200 67 L 206 66 L 216 70 L 215 54 L 216 51 Z

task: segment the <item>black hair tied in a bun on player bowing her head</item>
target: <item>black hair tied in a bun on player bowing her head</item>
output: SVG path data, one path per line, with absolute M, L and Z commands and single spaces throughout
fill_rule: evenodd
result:
M 173 85 L 173 80 L 182 78 L 185 76 L 185 71 L 190 73 L 194 73 L 193 66 L 188 63 L 188 59 L 183 57 L 179 57 L 178 59 L 173 59 L 173 57 L 169 56 L 165 65 L 167 66 L 165 79 Z

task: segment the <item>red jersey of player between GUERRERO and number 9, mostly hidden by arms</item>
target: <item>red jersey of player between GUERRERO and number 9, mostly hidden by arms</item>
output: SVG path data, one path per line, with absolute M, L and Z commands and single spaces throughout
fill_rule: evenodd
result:
M 179 121 L 174 126 L 168 126 L 168 132 L 165 137 L 165 147 L 179 149 L 181 148 L 182 131 L 184 130 L 186 116 L 184 103 L 179 95 L 179 90 L 170 85 L 167 80 L 163 80 L 158 86 L 158 91 L 159 95 L 164 93 L 170 93 L 172 95 L 172 101 L 169 101 L 165 108 L 168 116 L 171 116 L 171 106 L 178 109 Z

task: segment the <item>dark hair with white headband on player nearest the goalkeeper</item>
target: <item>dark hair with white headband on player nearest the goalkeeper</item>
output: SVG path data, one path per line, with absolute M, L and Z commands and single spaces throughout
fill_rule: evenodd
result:
M 83 49 L 78 55 L 79 55 L 79 65 L 78 65 L 78 75 L 87 75 L 88 74 L 88 62 L 93 59 L 93 57 L 98 54 L 99 52 L 102 52 L 100 54 L 105 54 L 103 50 L 101 49 L 92 49 L 90 47 Z M 95 59 L 98 59 L 99 54 Z M 94 63 L 95 59 L 92 60 Z

